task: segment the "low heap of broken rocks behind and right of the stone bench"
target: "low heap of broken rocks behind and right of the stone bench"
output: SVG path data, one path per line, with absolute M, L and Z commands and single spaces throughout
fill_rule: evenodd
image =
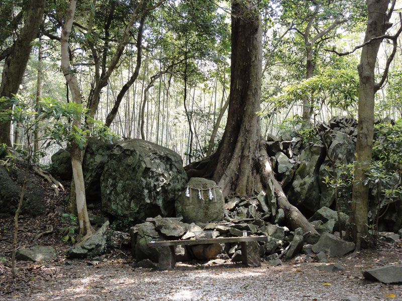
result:
M 307 233 L 302 228 L 289 231 L 286 226 L 272 224 L 269 219 L 277 219 L 276 216 L 268 215 L 259 211 L 259 203 L 255 200 L 230 199 L 226 206 L 229 210 L 223 212 L 225 218 L 222 221 L 213 222 L 183 222 L 182 217 L 165 218 L 157 216 L 147 218 L 144 223 L 137 224 L 130 229 L 132 255 L 137 262 L 150 259 L 158 261 L 158 250 L 149 247 L 151 241 L 162 240 L 186 240 L 200 238 L 198 233 L 209 234 L 210 237 L 238 237 L 244 232 L 250 235 L 267 236 L 267 241 L 260 243 L 260 256 L 269 264 L 282 264 L 281 258 L 288 260 L 298 254 L 302 254 L 305 260 L 318 260 L 326 262 L 328 256 L 343 256 L 351 252 L 355 245 L 353 242 L 341 240 L 334 235 L 334 227 L 321 228 L 321 236 L 318 241 L 307 241 Z M 279 211 L 279 210 L 278 210 Z M 238 216 L 240 212 L 243 217 Z M 235 218 L 232 218 L 233 215 Z M 253 215 L 255 214 L 255 215 Z M 329 208 L 324 208 L 315 214 L 317 218 L 338 223 L 337 213 Z M 266 220 L 262 219 L 265 218 Z M 343 215 L 340 224 L 344 225 L 347 216 Z M 314 221 L 313 224 L 324 225 L 323 221 Z M 181 245 L 176 248 L 177 261 L 189 261 L 192 259 L 209 260 L 214 258 L 231 259 L 241 261 L 241 245 L 210 244 L 210 245 Z

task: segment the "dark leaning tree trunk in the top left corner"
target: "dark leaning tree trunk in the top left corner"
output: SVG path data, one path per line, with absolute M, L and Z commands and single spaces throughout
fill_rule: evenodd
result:
M 31 0 L 29 3 L 25 25 L 13 46 L 13 51 L 7 57 L 3 67 L 0 98 L 11 98 L 13 94 L 17 94 L 18 92 L 31 54 L 31 42 L 36 38 L 39 26 L 42 23 L 45 4 L 46 0 Z M 0 111 L 10 108 L 11 106 L 9 104 L 0 105 Z M 6 143 L 8 146 L 12 146 L 10 130 L 11 121 L 0 122 L 0 143 Z

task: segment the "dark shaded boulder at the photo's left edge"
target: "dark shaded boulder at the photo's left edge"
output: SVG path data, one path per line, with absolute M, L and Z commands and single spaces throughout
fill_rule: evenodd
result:
M 0 216 L 15 214 L 20 202 L 25 171 L 23 166 L 14 166 L 10 171 L 0 165 Z M 29 173 L 21 214 L 37 216 L 46 212 L 46 192 L 42 188 L 41 179 Z

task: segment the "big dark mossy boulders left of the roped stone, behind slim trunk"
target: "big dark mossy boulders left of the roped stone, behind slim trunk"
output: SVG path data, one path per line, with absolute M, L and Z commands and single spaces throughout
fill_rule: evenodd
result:
M 70 175 L 63 170 L 71 168 L 65 164 L 69 160 L 65 153 L 61 149 L 52 157 L 59 177 Z M 174 216 L 175 194 L 187 183 L 177 153 L 141 139 L 108 144 L 90 138 L 82 170 L 89 206 L 134 223 L 158 214 Z

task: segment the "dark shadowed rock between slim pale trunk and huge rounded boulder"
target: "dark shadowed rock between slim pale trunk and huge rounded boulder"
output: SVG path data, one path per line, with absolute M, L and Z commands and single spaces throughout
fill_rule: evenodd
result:
M 87 202 L 100 203 L 102 197 L 100 193 L 100 177 L 115 145 L 93 137 L 89 138 L 87 142 L 82 161 L 85 197 Z

